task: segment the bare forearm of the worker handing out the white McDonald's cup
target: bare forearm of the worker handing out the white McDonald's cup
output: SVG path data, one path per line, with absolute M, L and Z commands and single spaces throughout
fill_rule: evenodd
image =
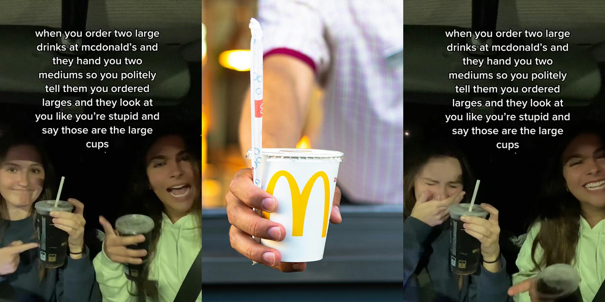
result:
M 263 147 L 293 148 L 298 142 L 315 80 L 313 69 L 295 57 L 273 54 L 263 62 Z M 250 142 L 250 89 L 240 118 L 240 147 Z M 247 161 L 248 164 L 249 161 Z

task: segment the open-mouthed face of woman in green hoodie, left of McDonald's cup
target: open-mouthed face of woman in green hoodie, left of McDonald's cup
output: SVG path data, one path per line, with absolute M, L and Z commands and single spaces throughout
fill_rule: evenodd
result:
M 155 141 L 147 153 L 149 184 L 164 204 L 166 214 L 186 214 L 198 196 L 200 185 L 195 181 L 192 159 L 183 139 L 175 135 Z

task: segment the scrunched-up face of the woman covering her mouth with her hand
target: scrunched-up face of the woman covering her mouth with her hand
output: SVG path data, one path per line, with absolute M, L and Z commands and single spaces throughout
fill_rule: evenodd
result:
M 431 158 L 420 169 L 414 180 L 416 200 L 424 192 L 430 192 L 432 198 L 446 199 L 462 191 L 462 167 L 456 158 L 443 156 Z

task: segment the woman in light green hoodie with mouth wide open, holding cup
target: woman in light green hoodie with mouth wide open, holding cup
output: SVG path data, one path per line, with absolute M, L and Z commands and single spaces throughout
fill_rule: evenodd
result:
M 139 179 L 132 182 L 129 200 L 138 207 L 137 214 L 155 222 L 149 251 L 126 248 L 145 237 L 119 236 L 105 218 L 99 218 L 106 237 L 94 268 L 103 301 L 174 301 L 201 249 L 200 162 L 181 135 L 156 136 L 142 150 L 144 167 L 138 167 Z M 122 263 L 141 264 L 145 255 L 143 281 L 128 280 Z

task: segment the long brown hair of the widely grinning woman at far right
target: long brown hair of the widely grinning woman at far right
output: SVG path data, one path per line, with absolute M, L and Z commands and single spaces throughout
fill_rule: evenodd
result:
M 580 201 L 567 191 L 566 181 L 563 178 L 562 155 L 569 143 L 581 134 L 598 135 L 605 143 L 602 131 L 603 126 L 596 122 L 571 127 L 549 160 L 544 185 L 537 202 L 540 213 L 535 223 L 540 223 L 541 226 L 532 243 L 533 272 L 556 263 L 571 264 L 575 259 L 580 238 L 581 207 Z M 544 251 L 540 259 L 536 259 L 538 245 Z

